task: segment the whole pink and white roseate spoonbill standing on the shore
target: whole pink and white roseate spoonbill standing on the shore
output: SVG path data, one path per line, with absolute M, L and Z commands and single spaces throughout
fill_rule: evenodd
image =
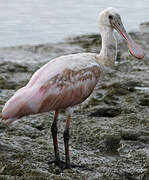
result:
M 63 135 L 65 168 L 70 168 L 69 124 L 73 106 L 89 97 L 103 68 L 114 64 L 117 53 L 114 29 L 124 37 L 133 56 L 138 59 L 144 57 L 143 50 L 126 33 L 117 10 L 107 8 L 99 14 L 99 31 L 102 37 L 102 49 L 99 54 L 79 53 L 51 60 L 34 73 L 28 84 L 11 97 L 2 110 L 2 120 L 54 110 L 51 132 L 55 164 L 61 168 L 64 167 L 64 162 L 60 160 L 57 141 L 59 111 L 65 109 L 67 114 Z

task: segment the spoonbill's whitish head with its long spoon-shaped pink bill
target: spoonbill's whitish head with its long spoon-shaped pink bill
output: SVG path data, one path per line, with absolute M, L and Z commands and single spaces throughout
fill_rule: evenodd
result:
M 143 50 L 127 34 L 117 9 L 110 7 L 99 14 L 99 28 L 100 31 L 104 31 L 105 28 L 115 29 L 126 40 L 128 49 L 133 56 L 138 59 L 144 57 Z

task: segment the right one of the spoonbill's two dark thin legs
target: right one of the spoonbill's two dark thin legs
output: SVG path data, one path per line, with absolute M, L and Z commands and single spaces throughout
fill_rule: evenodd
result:
M 70 168 L 70 158 L 69 158 L 69 124 L 70 124 L 70 115 L 66 118 L 66 126 L 64 130 L 64 145 L 65 145 L 65 159 L 66 159 L 66 166 L 65 168 Z

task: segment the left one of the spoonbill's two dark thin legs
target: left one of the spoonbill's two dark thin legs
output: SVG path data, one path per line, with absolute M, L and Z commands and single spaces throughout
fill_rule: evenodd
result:
M 55 163 L 58 165 L 60 162 L 59 150 L 58 150 L 58 141 L 57 141 L 57 118 L 59 111 L 56 110 L 54 114 L 54 120 L 51 126 L 51 133 L 53 137 L 54 153 L 55 153 Z

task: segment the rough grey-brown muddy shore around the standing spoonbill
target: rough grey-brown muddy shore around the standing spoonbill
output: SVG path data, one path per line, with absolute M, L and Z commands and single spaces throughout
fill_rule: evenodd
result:
M 50 127 L 53 112 L 0 123 L 0 180 L 148 180 L 149 179 L 149 23 L 132 38 L 145 51 L 132 57 L 118 39 L 115 66 L 92 96 L 78 106 L 70 126 L 71 161 L 86 169 L 60 170 L 53 160 Z M 0 48 L 0 111 L 33 72 L 54 57 L 99 52 L 97 34 L 57 44 Z M 59 148 L 64 159 L 65 114 L 59 118 Z

